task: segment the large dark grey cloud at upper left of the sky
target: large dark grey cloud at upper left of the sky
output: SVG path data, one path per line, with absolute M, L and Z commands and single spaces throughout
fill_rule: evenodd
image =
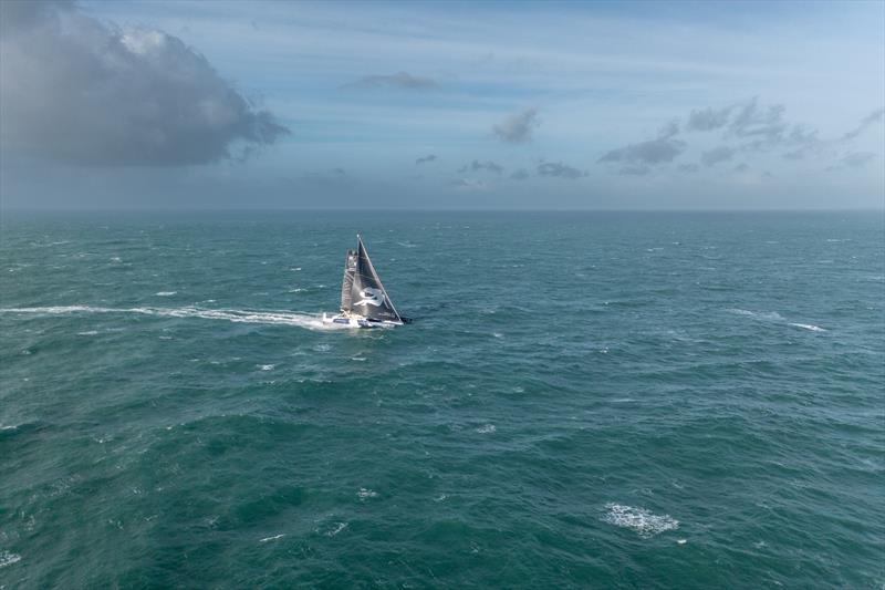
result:
M 0 23 L 4 153 L 90 166 L 183 166 L 290 133 L 163 31 L 118 29 L 63 1 L 0 2 Z

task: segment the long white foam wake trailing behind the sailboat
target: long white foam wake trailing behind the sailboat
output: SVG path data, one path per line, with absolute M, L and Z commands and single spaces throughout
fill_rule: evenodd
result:
M 294 325 L 308 330 L 342 330 L 342 324 L 323 323 L 322 318 L 308 313 L 290 311 L 251 311 L 239 309 L 201 308 L 101 308 L 92 306 L 53 306 L 44 308 L 2 308 L 0 313 L 28 313 L 37 315 L 65 315 L 70 313 L 138 313 L 160 318 L 198 318 L 202 320 L 226 320 L 236 323 L 259 323 L 270 325 Z

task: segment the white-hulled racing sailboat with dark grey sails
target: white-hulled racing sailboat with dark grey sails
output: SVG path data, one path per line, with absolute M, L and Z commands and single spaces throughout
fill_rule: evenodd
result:
M 399 315 L 387 297 L 375 267 L 368 258 L 363 238 L 356 235 L 356 250 L 347 250 L 344 259 L 344 281 L 341 284 L 341 312 L 323 313 L 324 323 L 352 328 L 391 328 L 409 323 Z

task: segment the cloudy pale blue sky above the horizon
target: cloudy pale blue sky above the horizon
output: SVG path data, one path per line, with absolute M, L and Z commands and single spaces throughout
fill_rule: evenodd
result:
M 882 209 L 885 2 L 0 3 L 0 209 Z

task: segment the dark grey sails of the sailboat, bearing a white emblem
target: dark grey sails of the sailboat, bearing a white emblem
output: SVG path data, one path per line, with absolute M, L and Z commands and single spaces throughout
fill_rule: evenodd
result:
M 357 235 L 356 250 L 347 250 L 344 281 L 341 284 L 341 311 L 371 320 L 402 321 Z

